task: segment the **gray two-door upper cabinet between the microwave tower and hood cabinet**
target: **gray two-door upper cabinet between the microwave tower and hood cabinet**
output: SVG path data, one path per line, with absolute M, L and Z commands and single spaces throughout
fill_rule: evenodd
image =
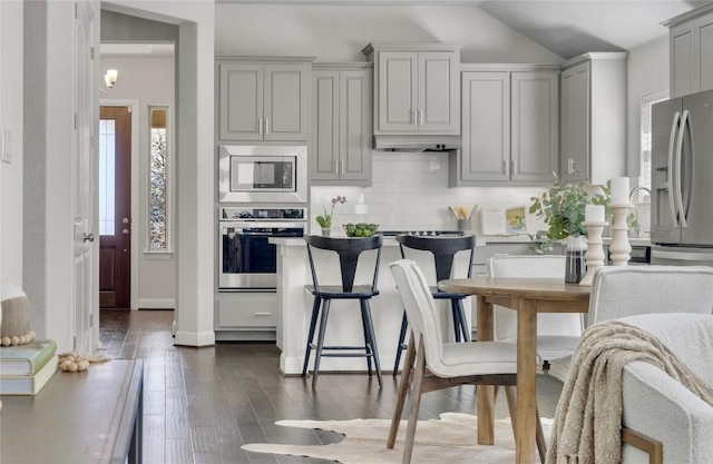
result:
M 371 63 L 312 68 L 312 185 L 371 185 Z

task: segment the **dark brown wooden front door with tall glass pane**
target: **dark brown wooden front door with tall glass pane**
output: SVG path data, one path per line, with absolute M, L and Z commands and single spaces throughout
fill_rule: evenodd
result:
M 99 307 L 130 308 L 131 113 L 105 107 L 99 116 Z

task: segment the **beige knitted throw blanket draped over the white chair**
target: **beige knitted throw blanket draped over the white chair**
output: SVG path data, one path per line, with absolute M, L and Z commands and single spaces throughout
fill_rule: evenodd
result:
M 713 387 L 656 337 L 622 322 L 585 330 L 557 406 L 547 464 L 618 464 L 622 455 L 622 377 L 626 364 L 651 363 L 713 405 Z

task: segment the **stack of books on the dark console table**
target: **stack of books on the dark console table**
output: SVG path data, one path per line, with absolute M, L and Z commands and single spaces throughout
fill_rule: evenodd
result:
M 0 347 L 0 395 L 36 395 L 57 372 L 53 339 Z

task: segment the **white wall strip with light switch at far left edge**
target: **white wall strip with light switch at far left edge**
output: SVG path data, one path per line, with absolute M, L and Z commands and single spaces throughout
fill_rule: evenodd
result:
M 20 1 L 0 2 L 0 126 L 12 139 L 12 162 L 0 162 L 0 282 L 22 285 L 22 18 Z M 2 130 L 0 128 L 0 130 Z

